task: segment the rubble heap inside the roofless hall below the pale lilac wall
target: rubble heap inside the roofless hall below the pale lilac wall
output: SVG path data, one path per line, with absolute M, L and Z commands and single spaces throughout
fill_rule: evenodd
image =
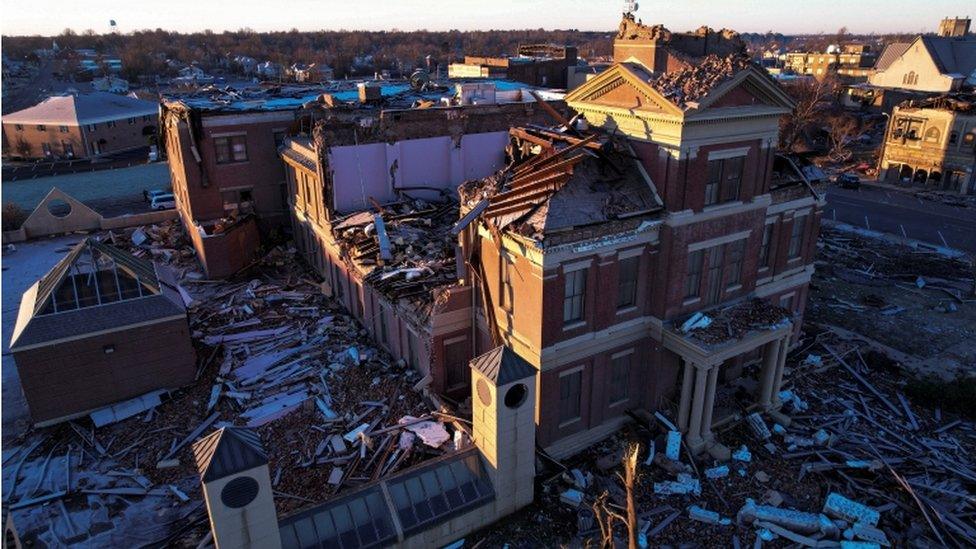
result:
M 410 200 L 362 211 L 333 225 L 336 241 L 370 285 L 393 301 L 408 299 L 429 315 L 433 290 L 457 280 L 451 228 L 458 204 Z

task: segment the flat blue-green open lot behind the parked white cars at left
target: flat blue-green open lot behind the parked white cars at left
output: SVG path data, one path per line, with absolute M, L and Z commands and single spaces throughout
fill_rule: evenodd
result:
M 113 217 L 147 211 L 143 189 L 170 186 L 169 166 L 165 162 L 96 172 L 4 180 L 3 202 L 14 202 L 30 212 L 57 187 L 84 202 L 100 214 Z

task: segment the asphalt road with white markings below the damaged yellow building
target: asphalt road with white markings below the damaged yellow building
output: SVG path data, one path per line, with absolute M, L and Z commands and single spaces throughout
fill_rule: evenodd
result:
M 916 198 L 910 192 L 831 186 L 825 219 L 976 253 L 976 209 Z

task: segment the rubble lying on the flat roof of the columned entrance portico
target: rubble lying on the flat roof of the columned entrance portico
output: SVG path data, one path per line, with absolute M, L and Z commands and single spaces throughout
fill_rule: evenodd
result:
M 688 337 L 712 345 L 740 339 L 755 330 L 775 329 L 791 318 L 786 309 L 750 299 L 715 311 L 695 313 L 681 325 Z

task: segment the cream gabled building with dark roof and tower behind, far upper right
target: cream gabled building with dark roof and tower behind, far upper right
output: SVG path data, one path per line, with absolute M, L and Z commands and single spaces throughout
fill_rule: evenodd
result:
M 969 19 L 946 19 L 939 36 L 889 44 L 868 80 L 880 88 L 927 93 L 976 85 L 976 37 Z

